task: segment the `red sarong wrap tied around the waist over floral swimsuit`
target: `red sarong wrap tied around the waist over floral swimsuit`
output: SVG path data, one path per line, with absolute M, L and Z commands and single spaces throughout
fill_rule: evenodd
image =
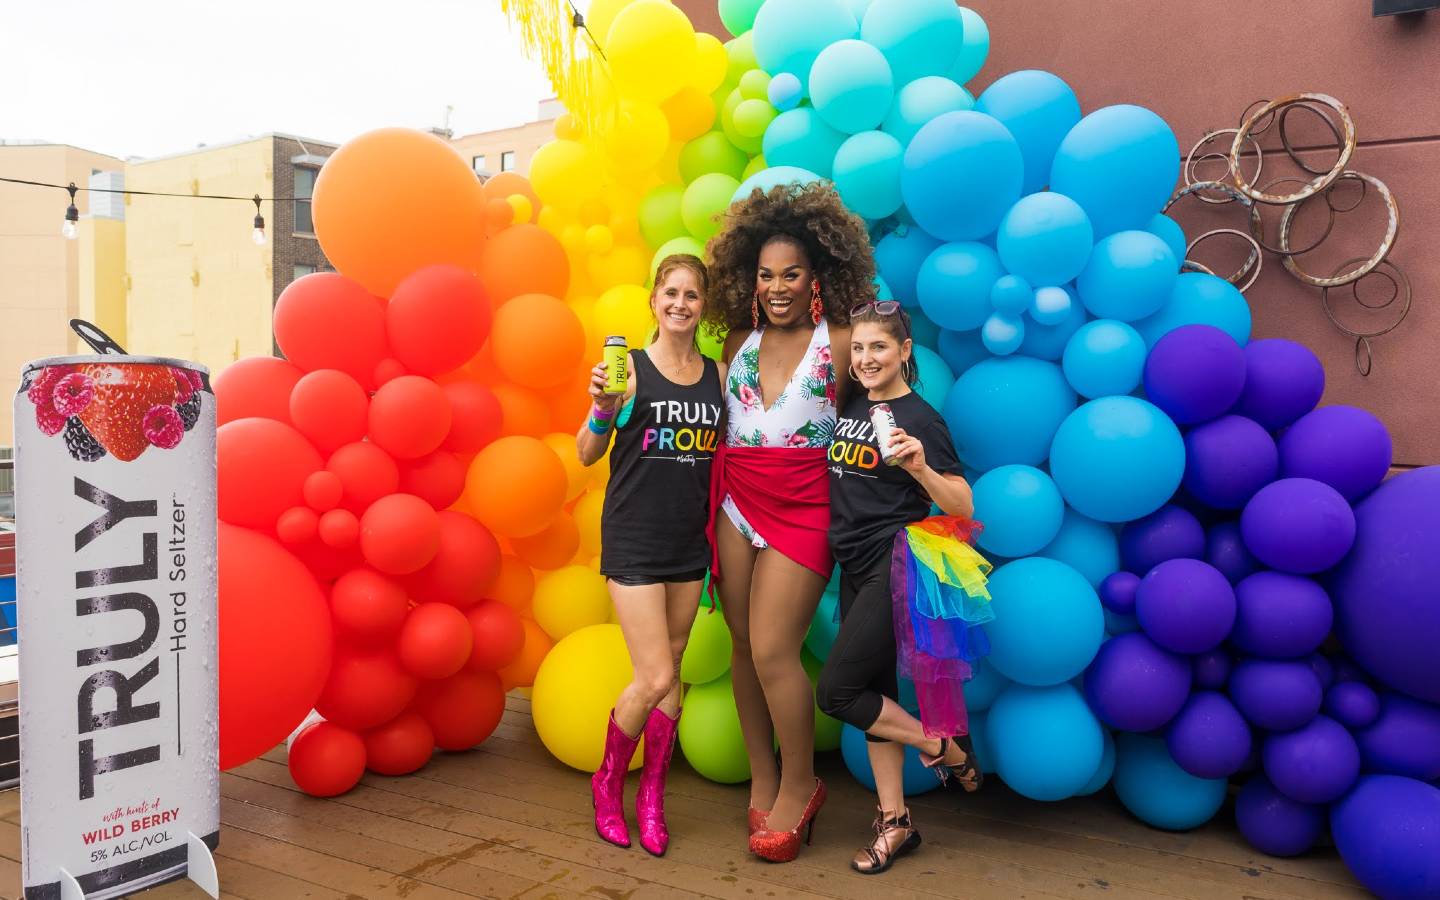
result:
M 710 609 L 720 583 L 720 546 L 716 526 L 726 494 L 765 541 L 815 572 L 829 577 L 829 477 L 825 448 L 720 446 L 710 464 Z

